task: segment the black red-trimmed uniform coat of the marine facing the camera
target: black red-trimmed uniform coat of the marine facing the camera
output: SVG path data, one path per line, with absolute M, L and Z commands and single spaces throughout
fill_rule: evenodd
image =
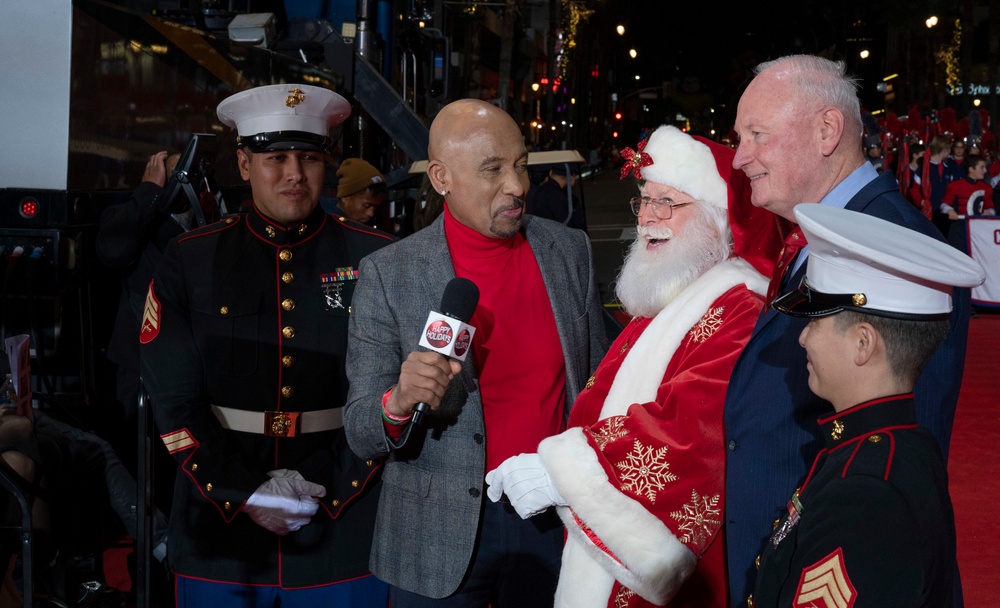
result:
M 168 248 L 140 340 L 158 432 L 180 465 L 168 543 L 178 574 L 284 588 L 368 574 L 381 463 L 357 458 L 342 428 L 280 438 L 227 430 L 210 404 L 342 407 L 357 268 L 391 240 L 319 207 L 287 228 L 254 208 Z M 240 512 L 276 469 L 326 488 L 312 522 L 284 537 Z

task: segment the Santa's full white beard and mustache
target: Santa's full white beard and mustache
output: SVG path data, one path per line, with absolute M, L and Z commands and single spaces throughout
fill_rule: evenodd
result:
M 729 257 L 728 231 L 721 238 L 710 213 L 700 209 L 677 236 L 666 227 L 637 227 L 638 237 L 615 284 L 615 295 L 626 312 L 634 317 L 655 317 L 685 287 Z M 668 242 L 647 250 L 646 244 L 653 239 Z

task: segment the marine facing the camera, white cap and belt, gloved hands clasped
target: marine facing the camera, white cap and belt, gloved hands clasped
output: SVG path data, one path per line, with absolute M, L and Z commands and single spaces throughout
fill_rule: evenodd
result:
M 170 244 L 140 330 L 160 438 L 179 465 L 168 562 L 177 605 L 384 608 L 368 572 L 381 462 L 343 430 L 361 259 L 393 239 L 319 207 L 333 91 L 232 95 L 253 208 Z

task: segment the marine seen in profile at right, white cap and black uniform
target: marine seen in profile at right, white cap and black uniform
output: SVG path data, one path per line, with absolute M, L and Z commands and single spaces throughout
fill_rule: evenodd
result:
M 948 333 L 952 286 L 985 271 L 884 220 L 799 205 L 806 276 L 774 300 L 811 317 L 799 336 L 809 388 L 833 404 L 824 448 L 758 557 L 751 607 L 951 606 L 955 522 L 913 385 Z

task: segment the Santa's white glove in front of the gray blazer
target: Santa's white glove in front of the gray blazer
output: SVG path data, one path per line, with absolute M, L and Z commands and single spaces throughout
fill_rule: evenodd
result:
M 506 494 L 521 519 L 538 515 L 552 506 L 566 505 L 538 454 L 511 456 L 486 474 L 486 483 L 490 486 L 486 490 L 490 500 L 497 502 Z

